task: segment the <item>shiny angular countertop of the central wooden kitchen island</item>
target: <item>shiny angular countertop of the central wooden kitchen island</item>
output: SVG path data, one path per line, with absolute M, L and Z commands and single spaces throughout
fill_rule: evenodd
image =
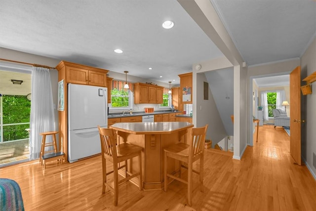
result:
M 193 127 L 187 122 L 157 122 L 157 123 L 116 123 L 110 128 L 131 134 L 170 134 Z

